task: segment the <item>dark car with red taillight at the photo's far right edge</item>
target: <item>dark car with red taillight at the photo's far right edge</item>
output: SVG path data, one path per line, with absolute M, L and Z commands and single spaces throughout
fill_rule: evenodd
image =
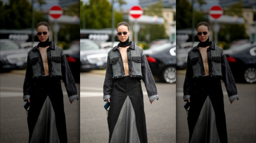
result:
M 224 50 L 236 81 L 256 82 L 256 44 L 244 44 Z

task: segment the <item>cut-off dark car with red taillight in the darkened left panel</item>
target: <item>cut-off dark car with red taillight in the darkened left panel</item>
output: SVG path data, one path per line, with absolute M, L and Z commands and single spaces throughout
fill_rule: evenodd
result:
M 71 43 L 69 49 L 63 50 L 67 57 L 75 82 L 80 82 L 80 41 Z

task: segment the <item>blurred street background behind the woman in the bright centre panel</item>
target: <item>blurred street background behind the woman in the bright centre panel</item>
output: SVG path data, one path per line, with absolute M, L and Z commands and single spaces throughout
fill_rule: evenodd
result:
M 129 14 L 135 5 L 143 9 L 137 22 Z M 123 21 L 130 25 L 129 40 L 147 56 L 160 98 L 151 105 L 142 84 L 148 142 L 176 142 L 175 0 L 80 1 L 81 142 L 108 141 L 103 83 L 107 53 L 119 43 L 117 24 Z

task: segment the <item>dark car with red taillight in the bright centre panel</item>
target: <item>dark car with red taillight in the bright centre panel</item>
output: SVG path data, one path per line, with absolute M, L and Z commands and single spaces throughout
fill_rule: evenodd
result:
M 153 75 L 167 83 L 176 82 L 176 46 L 164 43 L 144 53 Z

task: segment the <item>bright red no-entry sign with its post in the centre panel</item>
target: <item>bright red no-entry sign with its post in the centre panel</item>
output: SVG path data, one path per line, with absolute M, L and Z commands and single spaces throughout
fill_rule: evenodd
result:
M 134 22 L 134 42 L 136 44 L 138 44 L 138 31 L 139 31 L 139 25 L 137 23 L 137 19 L 143 14 L 143 9 L 140 6 L 133 6 L 130 11 L 129 14 L 131 17 L 133 17 L 135 19 Z

